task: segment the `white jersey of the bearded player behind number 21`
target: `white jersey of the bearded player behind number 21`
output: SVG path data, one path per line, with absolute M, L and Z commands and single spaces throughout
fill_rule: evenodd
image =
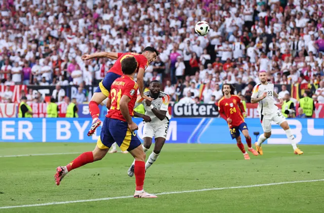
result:
M 144 95 L 150 97 L 150 91 L 144 92 Z M 166 118 L 163 121 L 158 119 L 154 115 L 152 110 L 149 107 L 147 107 L 146 102 L 143 100 L 141 95 L 137 96 L 137 100 L 136 100 L 134 109 L 139 104 L 143 104 L 144 109 L 145 109 L 145 115 L 147 115 L 147 116 L 149 116 L 151 118 L 151 122 L 148 122 L 148 124 L 150 124 L 151 126 L 163 125 L 163 124 L 168 123 L 169 120 L 171 119 L 171 116 L 170 116 L 169 111 L 168 111 L 169 101 L 170 101 L 170 96 L 168 94 L 164 93 L 164 92 L 160 92 L 158 98 L 152 100 L 152 102 L 151 102 L 151 104 L 153 105 L 154 108 L 156 108 L 158 110 L 161 110 L 161 111 L 167 111 Z

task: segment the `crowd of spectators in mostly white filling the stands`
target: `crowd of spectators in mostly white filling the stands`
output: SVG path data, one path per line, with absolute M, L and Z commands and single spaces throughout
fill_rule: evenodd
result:
M 173 100 L 215 102 L 223 83 L 240 84 L 241 94 L 251 96 L 259 70 L 267 70 L 273 83 L 318 85 L 313 97 L 323 103 L 322 3 L 4 0 L 1 84 L 96 86 L 114 61 L 82 61 L 83 54 L 153 46 L 160 55 L 144 81 L 161 81 Z M 199 20 L 211 26 L 206 37 L 194 32 Z

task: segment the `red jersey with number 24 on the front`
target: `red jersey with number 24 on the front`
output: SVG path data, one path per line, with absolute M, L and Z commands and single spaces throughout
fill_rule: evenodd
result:
M 228 124 L 230 127 L 239 126 L 244 122 L 244 117 L 242 115 L 242 113 L 245 112 L 244 105 L 237 95 L 231 95 L 230 98 L 222 97 L 218 101 L 218 112 L 225 120 L 227 118 L 232 119 L 232 123 Z M 226 117 L 223 113 L 225 113 Z

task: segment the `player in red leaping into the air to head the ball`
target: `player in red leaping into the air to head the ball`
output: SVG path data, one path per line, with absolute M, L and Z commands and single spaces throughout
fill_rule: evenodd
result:
M 98 128 L 98 126 L 101 124 L 101 121 L 99 120 L 99 107 L 98 105 L 109 96 L 110 87 L 112 82 L 119 78 L 121 75 L 123 75 L 123 72 L 121 72 L 121 61 L 123 61 L 125 58 L 133 56 L 135 57 L 137 61 L 137 68 L 136 73 L 137 74 L 137 83 L 140 91 L 140 95 L 143 99 L 152 100 L 150 97 L 147 97 L 143 94 L 143 77 L 144 72 L 148 64 L 155 61 L 156 56 L 158 55 L 158 52 L 153 47 L 146 47 L 143 50 L 142 54 L 138 53 L 113 53 L 113 52 L 99 52 L 94 53 L 91 55 L 83 55 L 81 58 L 82 60 L 90 60 L 92 58 L 109 58 L 116 60 L 111 69 L 108 70 L 108 73 L 106 74 L 105 78 L 99 83 L 98 88 L 94 92 L 90 102 L 89 102 L 89 110 L 92 117 L 92 126 L 88 132 L 88 136 L 93 135 L 95 133 L 95 130 Z

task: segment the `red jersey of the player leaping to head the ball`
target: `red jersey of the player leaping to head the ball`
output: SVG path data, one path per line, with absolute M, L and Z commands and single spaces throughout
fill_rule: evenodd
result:
M 144 55 L 138 53 L 118 53 L 118 59 L 115 61 L 115 63 L 107 73 L 112 72 L 117 75 L 123 76 L 124 74 L 121 71 L 121 61 L 130 56 L 134 56 L 137 61 L 136 73 L 138 72 L 139 68 L 146 69 L 146 67 L 148 66 L 148 61 Z

